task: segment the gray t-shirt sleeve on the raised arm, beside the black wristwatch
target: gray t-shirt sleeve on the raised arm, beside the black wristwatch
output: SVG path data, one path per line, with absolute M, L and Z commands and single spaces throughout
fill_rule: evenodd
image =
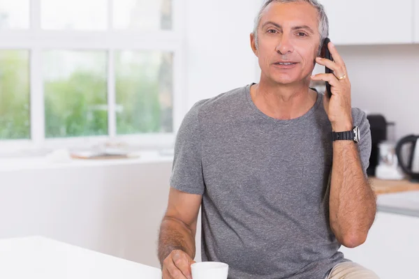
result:
M 358 143 L 358 149 L 360 151 L 360 159 L 362 170 L 365 176 L 367 176 L 367 168 L 369 167 L 369 157 L 371 156 L 372 140 L 371 130 L 369 129 L 369 121 L 367 114 L 362 112 L 360 109 L 353 109 L 353 119 L 355 126 L 360 128 L 360 142 Z

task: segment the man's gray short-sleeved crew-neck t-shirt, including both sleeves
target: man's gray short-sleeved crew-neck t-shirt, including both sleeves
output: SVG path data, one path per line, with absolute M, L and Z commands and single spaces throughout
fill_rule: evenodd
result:
M 260 112 L 251 84 L 186 114 L 177 134 L 170 186 L 203 195 L 202 259 L 229 264 L 228 278 L 323 279 L 348 261 L 330 229 L 332 128 L 318 93 L 291 120 Z M 366 172 L 369 123 L 353 109 Z

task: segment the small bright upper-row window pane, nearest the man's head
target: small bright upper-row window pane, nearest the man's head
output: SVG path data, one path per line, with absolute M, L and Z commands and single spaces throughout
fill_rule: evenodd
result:
M 172 29 L 172 0 L 114 0 L 115 29 Z

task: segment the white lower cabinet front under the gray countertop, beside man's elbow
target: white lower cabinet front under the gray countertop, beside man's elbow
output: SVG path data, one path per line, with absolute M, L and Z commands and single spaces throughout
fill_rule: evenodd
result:
M 419 218 L 378 212 L 362 246 L 341 247 L 347 259 L 377 273 L 381 279 L 418 278 Z

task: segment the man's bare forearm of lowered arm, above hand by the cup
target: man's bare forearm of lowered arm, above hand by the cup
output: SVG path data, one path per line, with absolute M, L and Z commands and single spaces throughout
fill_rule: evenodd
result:
M 192 230 L 181 221 L 165 217 L 159 234 L 159 261 L 163 261 L 173 250 L 182 250 L 192 259 L 195 257 L 195 236 Z

